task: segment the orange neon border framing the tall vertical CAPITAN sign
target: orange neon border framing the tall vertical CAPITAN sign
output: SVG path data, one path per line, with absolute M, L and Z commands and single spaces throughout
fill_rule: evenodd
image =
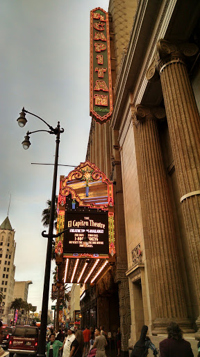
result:
M 109 88 L 109 97 L 110 97 L 110 112 L 105 114 L 104 116 L 100 116 L 93 109 L 93 96 L 94 96 L 94 81 L 93 81 L 93 41 L 94 41 L 94 33 L 93 33 L 93 13 L 96 10 L 101 10 L 106 15 L 106 33 L 107 33 L 107 56 L 108 56 L 108 88 Z M 109 36 L 109 19 L 108 13 L 106 13 L 103 8 L 94 8 L 90 11 L 90 116 L 94 120 L 97 119 L 97 123 L 106 123 L 110 119 L 110 116 L 113 113 L 113 92 L 112 92 L 112 77 L 111 77 L 111 61 L 110 61 L 110 36 Z M 95 119 L 96 118 L 96 119 Z M 98 120 L 99 119 L 99 120 Z

